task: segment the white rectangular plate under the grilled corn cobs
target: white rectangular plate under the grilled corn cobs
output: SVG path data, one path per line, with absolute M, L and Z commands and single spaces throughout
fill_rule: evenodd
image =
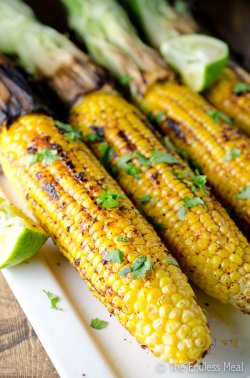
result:
M 23 203 L 0 175 L 4 195 L 23 208 Z M 194 288 L 199 304 L 206 309 L 213 345 L 203 365 L 191 368 L 162 363 L 144 350 L 110 316 L 89 292 L 77 272 L 47 242 L 34 258 L 3 270 L 60 377 L 74 378 L 179 378 L 211 376 L 250 378 L 250 317 L 207 297 Z M 50 308 L 43 290 L 59 295 L 63 311 Z M 106 329 L 90 327 L 92 318 L 107 320 Z

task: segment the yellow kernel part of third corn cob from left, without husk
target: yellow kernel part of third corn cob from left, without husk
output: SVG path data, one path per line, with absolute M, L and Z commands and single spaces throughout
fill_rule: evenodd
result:
M 162 132 L 169 135 L 176 146 L 188 150 L 190 159 L 201 166 L 218 198 L 249 230 L 250 199 L 237 199 L 237 195 L 250 186 L 250 139 L 233 125 L 223 121 L 216 124 L 207 114 L 211 111 L 210 105 L 201 96 L 175 83 L 152 86 L 142 106 L 154 115 L 164 113 L 158 122 Z M 226 161 L 231 148 L 239 149 L 240 156 Z

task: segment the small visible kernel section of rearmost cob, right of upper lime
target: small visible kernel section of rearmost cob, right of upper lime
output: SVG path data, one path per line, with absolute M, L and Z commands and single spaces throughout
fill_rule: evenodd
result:
M 238 67 L 226 67 L 205 96 L 215 107 L 230 115 L 250 136 L 250 93 L 235 94 L 234 86 L 239 82 L 250 83 L 250 75 Z

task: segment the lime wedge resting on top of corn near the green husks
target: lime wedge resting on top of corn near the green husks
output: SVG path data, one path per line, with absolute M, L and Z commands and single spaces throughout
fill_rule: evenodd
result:
M 219 39 L 189 34 L 164 42 L 161 53 L 179 72 L 184 84 L 201 92 L 211 87 L 220 76 L 228 61 L 229 48 Z

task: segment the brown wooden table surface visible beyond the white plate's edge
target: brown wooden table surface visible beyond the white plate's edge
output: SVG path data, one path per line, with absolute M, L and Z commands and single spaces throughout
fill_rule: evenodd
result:
M 47 353 L 1 272 L 0 377 L 58 378 Z

